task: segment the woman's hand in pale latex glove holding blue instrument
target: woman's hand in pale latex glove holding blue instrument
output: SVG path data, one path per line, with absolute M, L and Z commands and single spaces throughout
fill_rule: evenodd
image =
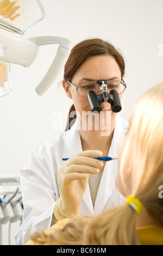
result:
M 55 204 L 54 215 L 57 220 L 78 215 L 80 203 L 89 180 L 89 174 L 99 173 L 103 162 L 99 150 L 82 151 L 66 160 L 58 170 L 58 186 L 61 197 Z

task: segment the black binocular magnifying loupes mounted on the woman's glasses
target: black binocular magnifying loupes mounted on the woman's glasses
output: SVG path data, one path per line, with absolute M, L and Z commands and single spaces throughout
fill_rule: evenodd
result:
M 104 101 L 108 101 L 110 103 L 112 112 L 120 112 L 122 107 L 118 92 L 113 89 L 110 91 L 110 93 L 108 93 L 106 86 L 108 81 L 106 80 L 98 80 L 97 83 L 101 86 L 99 89 L 102 91 L 102 94 L 97 95 L 92 90 L 87 93 L 87 99 L 90 103 L 92 112 L 99 113 L 100 111 L 102 111 L 101 104 Z

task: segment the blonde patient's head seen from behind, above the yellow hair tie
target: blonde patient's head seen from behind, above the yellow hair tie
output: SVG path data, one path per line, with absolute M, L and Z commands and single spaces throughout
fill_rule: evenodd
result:
M 118 147 L 118 190 L 159 202 L 163 185 L 163 82 L 152 87 L 137 102 L 130 117 L 129 131 Z M 156 202 L 155 201 L 155 202 Z M 146 203 L 145 203 L 146 204 Z

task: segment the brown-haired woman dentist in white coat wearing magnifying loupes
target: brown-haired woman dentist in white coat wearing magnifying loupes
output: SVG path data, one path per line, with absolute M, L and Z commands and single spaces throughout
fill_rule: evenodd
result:
M 21 171 L 24 212 L 16 234 L 18 245 L 57 220 L 97 215 L 123 203 L 115 186 L 117 160 L 103 162 L 95 158 L 117 158 L 118 143 L 128 130 L 128 123 L 111 111 L 110 103 L 104 102 L 102 111 L 88 124 L 84 113 L 92 112 L 83 88 L 92 90 L 92 81 L 95 84 L 97 80 L 107 80 L 108 92 L 121 90 L 118 93 L 122 99 L 126 88 L 124 68 L 121 53 L 101 39 L 84 40 L 72 49 L 65 65 L 63 87 L 73 100 L 71 110 L 76 111 L 77 119 L 58 139 L 34 150 L 28 166 Z M 97 89 L 96 93 L 101 94 Z M 89 129 L 83 129 L 85 124 L 90 125 Z M 62 161 L 64 157 L 70 159 Z

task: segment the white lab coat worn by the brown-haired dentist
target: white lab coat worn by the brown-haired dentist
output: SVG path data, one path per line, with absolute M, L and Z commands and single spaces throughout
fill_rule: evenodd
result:
M 128 123 L 116 115 L 116 125 L 109 156 L 117 157 L 118 143 L 128 130 Z M 21 170 L 21 192 L 23 197 L 23 222 L 16 234 L 17 245 L 24 245 L 30 234 L 51 226 L 56 200 L 60 197 L 57 172 L 63 157 L 71 157 L 82 151 L 77 121 L 70 130 L 58 139 L 47 142 L 32 152 L 27 168 Z M 80 215 L 97 215 L 105 209 L 119 205 L 124 198 L 115 186 L 117 160 L 105 164 L 93 209 L 89 185 L 87 185 Z

